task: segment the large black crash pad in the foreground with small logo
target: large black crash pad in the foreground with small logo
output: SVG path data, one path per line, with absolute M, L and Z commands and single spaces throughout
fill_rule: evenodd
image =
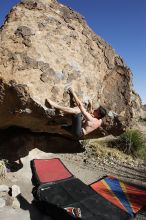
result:
M 68 214 L 68 209 L 80 210 L 83 220 L 131 219 L 127 212 L 77 178 L 40 185 L 34 196 L 38 207 L 55 220 L 78 219 Z

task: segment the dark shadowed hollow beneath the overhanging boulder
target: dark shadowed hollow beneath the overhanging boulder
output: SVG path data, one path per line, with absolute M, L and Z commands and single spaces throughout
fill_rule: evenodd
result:
M 16 161 L 34 148 L 47 153 L 79 153 L 84 149 L 78 140 L 60 135 L 33 133 L 28 129 L 10 127 L 0 130 L 0 158 Z

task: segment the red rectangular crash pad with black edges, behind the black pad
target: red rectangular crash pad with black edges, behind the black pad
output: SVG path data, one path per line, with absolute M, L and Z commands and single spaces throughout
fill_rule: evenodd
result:
M 73 177 L 59 158 L 35 159 L 31 161 L 32 182 L 41 185 Z

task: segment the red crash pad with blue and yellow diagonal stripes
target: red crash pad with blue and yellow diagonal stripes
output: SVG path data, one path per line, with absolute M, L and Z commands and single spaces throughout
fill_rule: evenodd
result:
M 115 206 L 134 216 L 146 205 L 146 190 L 107 176 L 92 183 L 91 188 Z

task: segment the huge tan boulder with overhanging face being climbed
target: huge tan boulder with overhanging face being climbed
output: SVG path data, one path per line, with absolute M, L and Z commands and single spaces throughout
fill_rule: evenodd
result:
M 0 78 L 1 128 L 65 134 L 61 125 L 70 117 L 45 100 L 69 106 L 68 86 L 83 102 L 110 110 L 102 133 L 122 132 L 133 117 L 130 70 L 78 13 L 55 0 L 25 0 L 11 10 L 0 30 Z

